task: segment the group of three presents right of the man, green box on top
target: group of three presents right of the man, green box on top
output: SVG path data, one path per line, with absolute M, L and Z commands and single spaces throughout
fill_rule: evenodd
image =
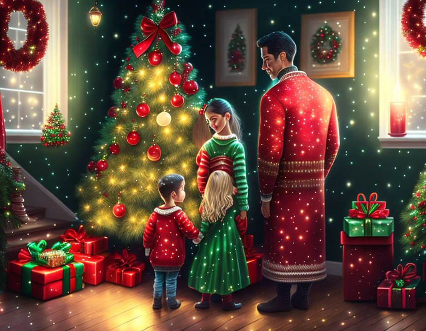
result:
M 376 301 L 378 307 L 416 308 L 416 265 L 393 269 L 393 218 L 386 202 L 358 194 L 340 233 L 345 300 Z

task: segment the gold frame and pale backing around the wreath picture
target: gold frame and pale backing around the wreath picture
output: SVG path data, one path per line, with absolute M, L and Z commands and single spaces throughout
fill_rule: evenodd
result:
M 341 51 L 336 61 L 319 64 L 311 55 L 313 35 L 327 23 L 342 39 Z M 344 78 L 355 76 L 355 12 L 302 15 L 300 42 L 300 69 L 310 78 Z

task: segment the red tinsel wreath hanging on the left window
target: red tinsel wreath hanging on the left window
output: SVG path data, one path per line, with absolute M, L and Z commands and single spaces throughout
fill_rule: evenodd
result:
M 28 21 L 23 46 L 15 45 L 7 36 L 10 13 L 21 11 Z M 36 0 L 0 0 L 0 66 L 11 71 L 28 71 L 46 54 L 49 26 L 43 5 Z

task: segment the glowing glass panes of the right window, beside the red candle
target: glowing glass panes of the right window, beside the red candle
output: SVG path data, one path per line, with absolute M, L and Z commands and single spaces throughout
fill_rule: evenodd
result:
M 399 0 L 400 15 L 404 3 Z M 426 131 L 426 60 L 408 45 L 402 33 L 398 43 L 399 84 L 407 101 L 407 131 Z

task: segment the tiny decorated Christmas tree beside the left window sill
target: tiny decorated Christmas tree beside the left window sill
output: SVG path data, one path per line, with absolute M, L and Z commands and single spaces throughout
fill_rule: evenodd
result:
M 62 113 L 59 111 L 58 104 L 56 104 L 55 109 L 47 119 L 47 124 L 43 126 L 43 132 L 40 137 L 41 143 L 46 147 L 66 145 L 70 141 L 70 135 Z

